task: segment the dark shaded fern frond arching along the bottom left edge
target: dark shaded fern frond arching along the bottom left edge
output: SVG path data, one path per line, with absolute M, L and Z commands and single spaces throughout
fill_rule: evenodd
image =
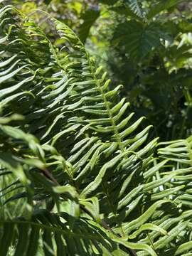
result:
M 36 255 L 38 250 L 43 250 L 45 255 L 118 253 L 117 242 L 107 237 L 102 228 L 86 218 L 80 220 L 67 213 L 35 210 L 31 220 L 4 220 L 0 223 L 0 229 L 3 233 L 0 240 L 2 255 L 11 253 L 11 245 L 16 246 L 15 255 L 21 255 L 21 252 L 23 255 Z

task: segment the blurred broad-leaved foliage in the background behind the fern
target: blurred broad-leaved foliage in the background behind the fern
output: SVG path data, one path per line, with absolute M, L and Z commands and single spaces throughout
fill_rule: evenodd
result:
M 190 1 L 7 1 L 25 14 L 40 8 L 78 33 L 138 117 L 169 140 L 191 134 Z M 43 23 L 40 13 L 36 22 Z M 52 36 L 45 23 L 47 33 Z M 49 30 L 49 31 L 48 31 Z

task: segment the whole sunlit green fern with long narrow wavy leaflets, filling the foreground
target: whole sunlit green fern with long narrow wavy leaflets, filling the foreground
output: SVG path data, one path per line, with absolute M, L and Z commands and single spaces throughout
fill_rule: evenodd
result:
M 48 15 L 48 14 L 45 14 Z M 191 255 L 191 138 L 147 139 L 78 36 L 1 6 L 1 255 Z

